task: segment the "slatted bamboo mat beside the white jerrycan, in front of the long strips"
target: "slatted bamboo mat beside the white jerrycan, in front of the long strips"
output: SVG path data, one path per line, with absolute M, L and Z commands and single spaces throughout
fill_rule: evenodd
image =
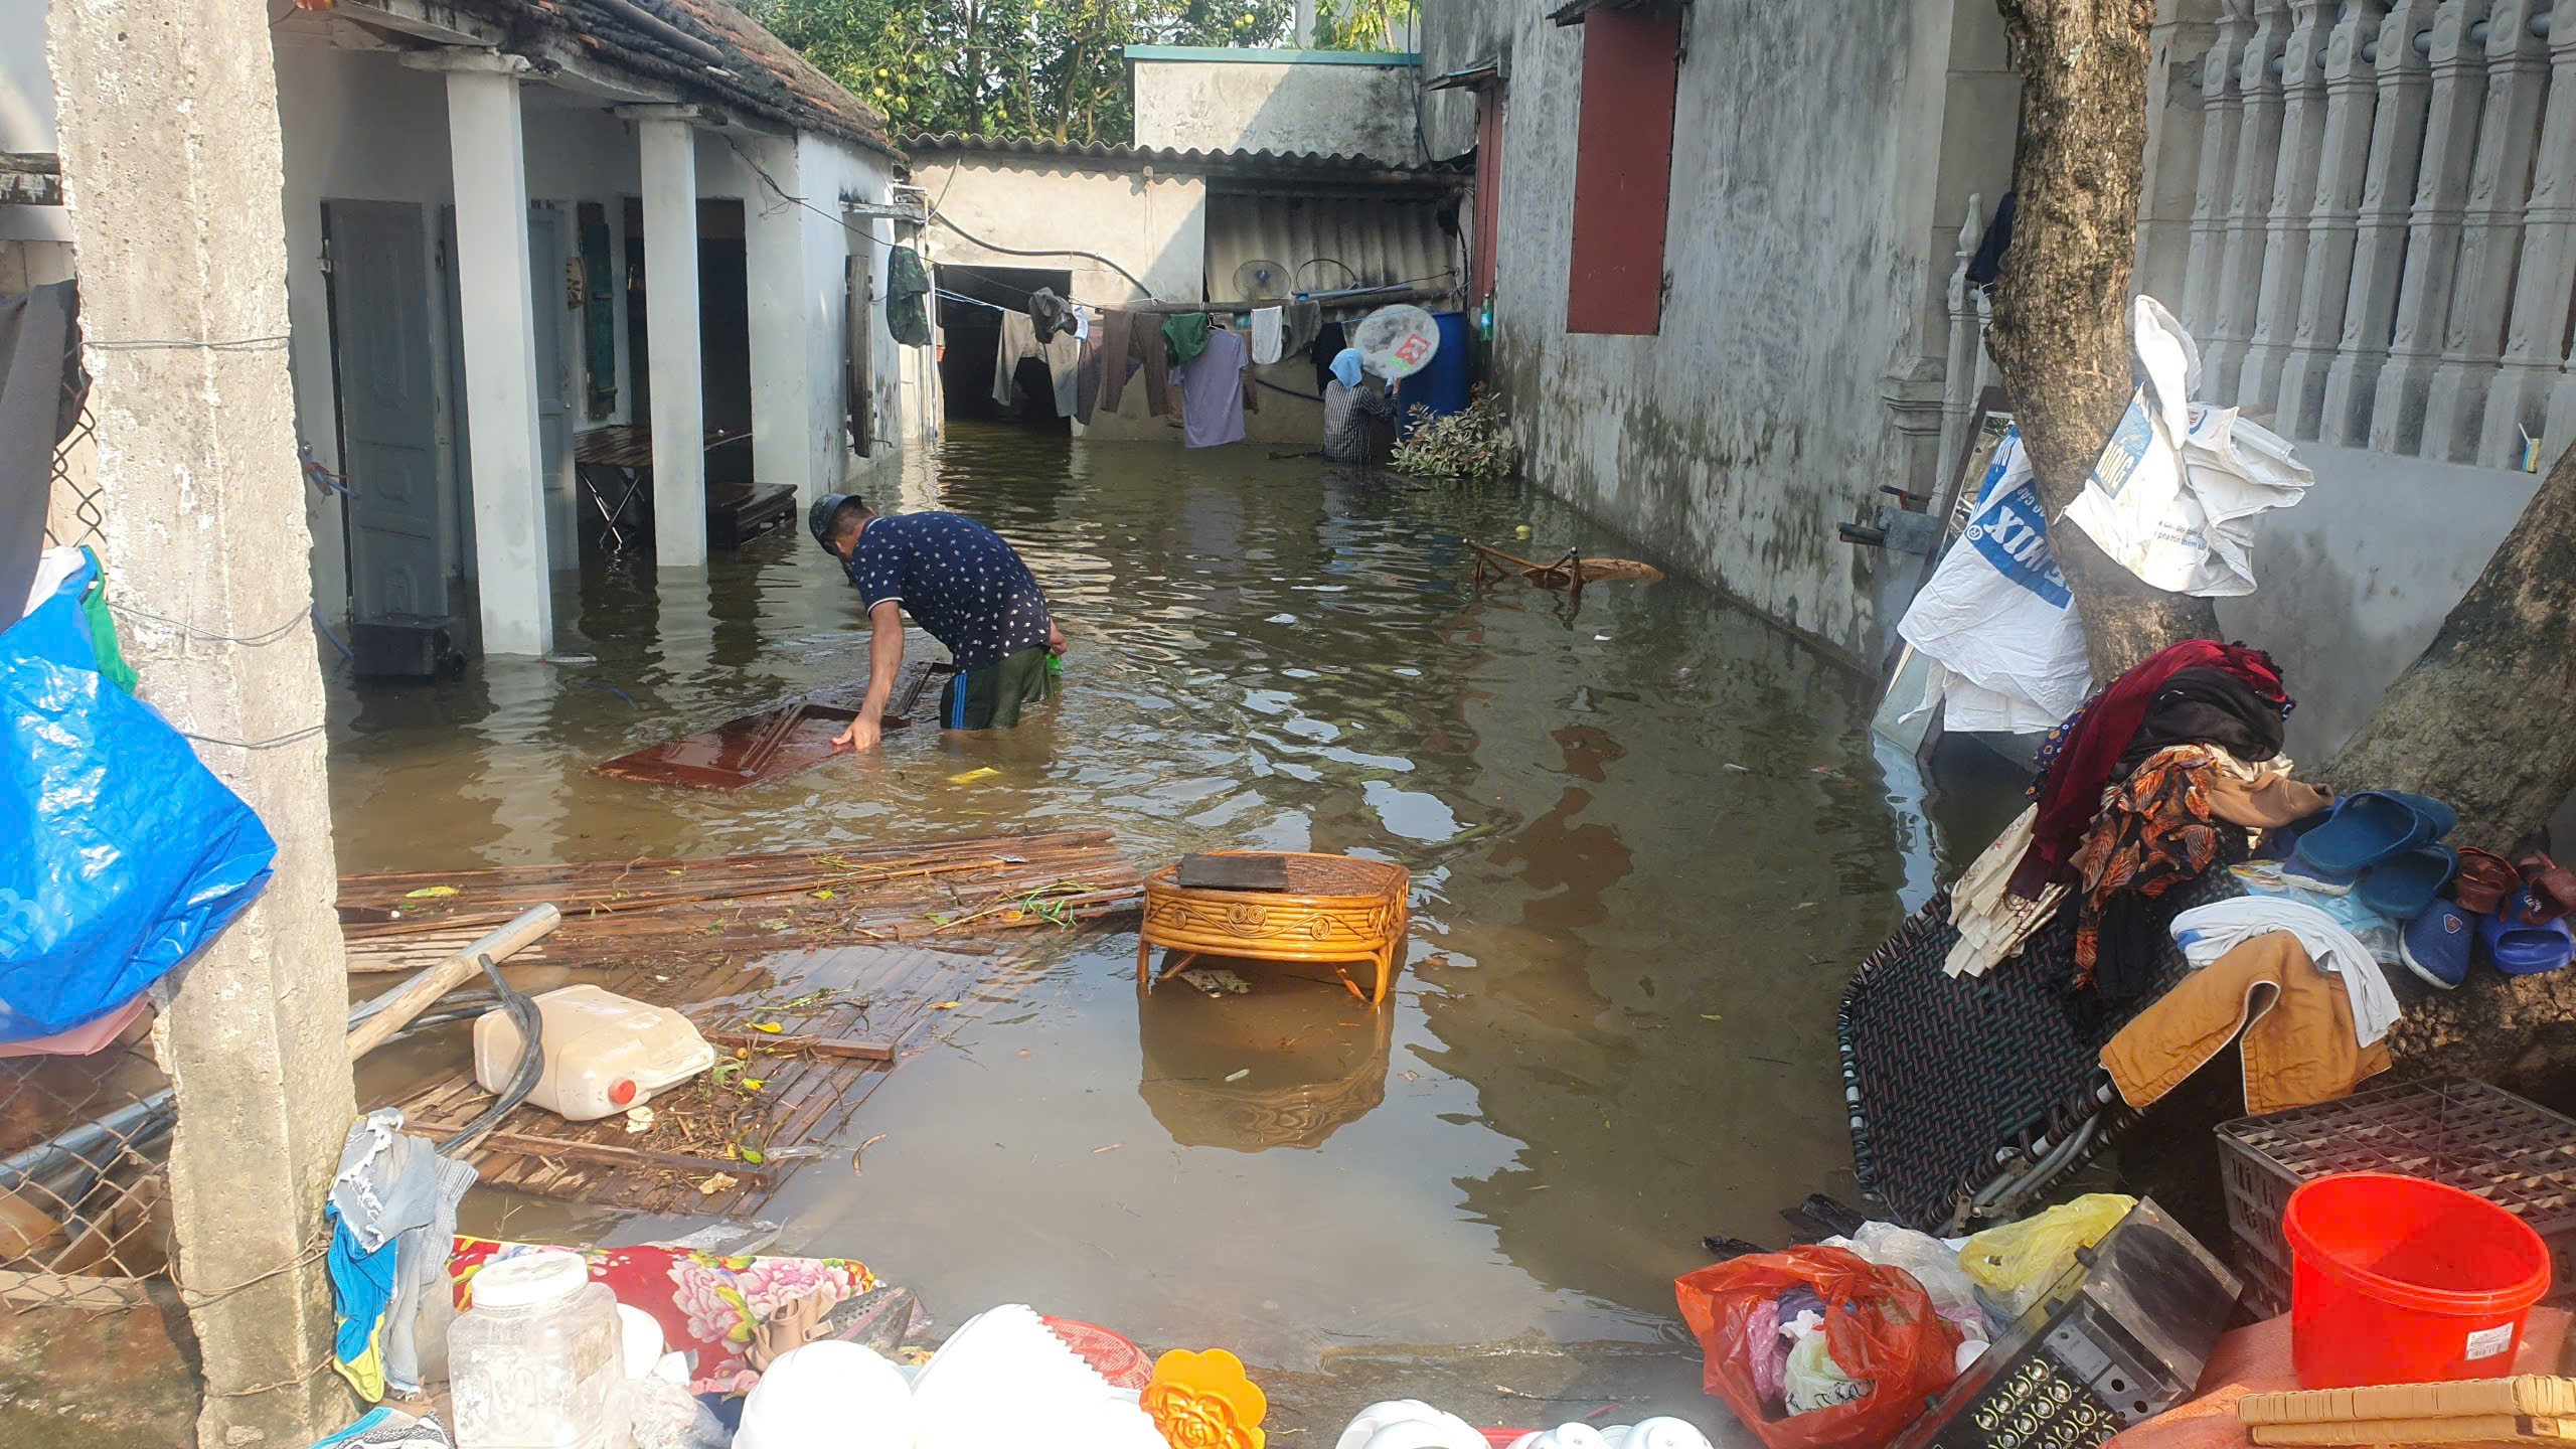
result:
M 755 1042 L 739 1052 L 719 1044 L 719 1060 L 742 1065 L 724 1067 L 724 1080 L 698 1075 L 654 1098 L 647 1132 L 629 1132 L 626 1116 L 564 1122 L 520 1106 L 466 1160 L 484 1186 L 531 1196 L 634 1212 L 752 1214 L 788 1173 L 829 1155 L 912 1044 L 940 1021 L 1005 1000 L 1015 980 L 989 957 L 917 946 L 788 951 L 739 964 L 719 957 L 690 972 L 613 967 L 598 977 L 605 990 L 677 1006 L 701 1031 Z M 781 1042 L 886 1044 L 894 1062 L 768 1047 L 762 1026 L 778 1026 Z M 374 1106 L 399 1106 L 415 1132 L 443 1137 L 489 1101 L 471 1070 L 459 1067 Z M 760 1160 L 744 1160 L 744 1150 Z

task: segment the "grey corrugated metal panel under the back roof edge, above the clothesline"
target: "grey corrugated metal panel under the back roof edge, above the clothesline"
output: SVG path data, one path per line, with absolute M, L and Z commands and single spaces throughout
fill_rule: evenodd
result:
M 1208 297 L 1453 284 L 1458 240 L 1440 229 L 1443 206 L 1419 196 L 1211 196 Z M 1247 286 L 1236 281 L 1244 263 L 1288 276 Z

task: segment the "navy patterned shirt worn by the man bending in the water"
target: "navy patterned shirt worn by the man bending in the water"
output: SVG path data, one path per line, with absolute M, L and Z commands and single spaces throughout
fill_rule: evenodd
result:
M 999 534 L 961 513 L 871 518 L 850 583 L 871 611 L 899 601 L 961 670 L 1046 647 L 1046 590 Z

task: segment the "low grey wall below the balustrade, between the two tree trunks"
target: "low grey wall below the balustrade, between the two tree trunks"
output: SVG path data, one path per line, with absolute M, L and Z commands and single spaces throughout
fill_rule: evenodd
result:
M 2290 755 L 2321 763 L 2442 629 L 2540 477 L 2324 443 L 2298 456 L 2316 487 L 2262 518 L 2257 590 L 2221 598 L 2218 621 L 2280 660 Z

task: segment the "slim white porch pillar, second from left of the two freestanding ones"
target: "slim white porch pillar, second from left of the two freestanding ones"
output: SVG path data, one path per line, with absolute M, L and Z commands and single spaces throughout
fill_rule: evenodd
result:
M 644 108 L 644 366 L 652 374 L 652 557 L 706 567 L 706 379 L 698 351 L 698 137 Z

